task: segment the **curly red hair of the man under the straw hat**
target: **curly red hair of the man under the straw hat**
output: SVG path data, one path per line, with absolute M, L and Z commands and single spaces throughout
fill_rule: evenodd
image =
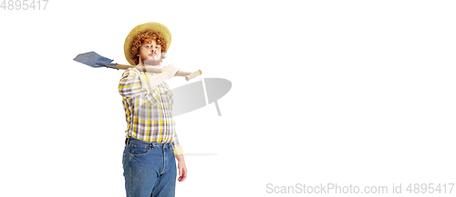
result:
M 167 43 L 165 41 L 165 38 L 161 35 L 160 32 L 156 32 L 153 30 L 146 30 L 141 34 L 137 34 L 132 41 L 130 53 L 131 53 L 131 61 L 134 64 L 140 64 L 140 57 L 138 56 L 140 54 L 140 46 L 144 43 L 152 43 L 152 41 L 155 41 L 156 44 L 161 45 L 161 49 L 166 49 L 167 48 Z M 166 51 L 161 51 L 161 61 L 165 59 L 166 57 Z

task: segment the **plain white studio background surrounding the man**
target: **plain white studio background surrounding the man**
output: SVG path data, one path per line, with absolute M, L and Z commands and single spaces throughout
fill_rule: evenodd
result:
M 185 153 L 215 154 L 185 157 L 177 196 L 456 183 L 454 10 L 424 0 L 1 8 L 0 196 L 125 196 L 122 72 L 73 58 L 95 51 L 127 64 L 124 39 L 146 22 L 171 30 L 166 64 L 233 84 L 218 101 L 222 116 L 212 103 L 176 117 Z

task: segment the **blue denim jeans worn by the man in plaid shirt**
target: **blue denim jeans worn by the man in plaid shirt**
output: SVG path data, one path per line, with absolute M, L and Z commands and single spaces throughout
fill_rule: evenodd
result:
M 129 138 L 122 164 L 127 197 L 174 196 L 177 168 L 171 143 Z

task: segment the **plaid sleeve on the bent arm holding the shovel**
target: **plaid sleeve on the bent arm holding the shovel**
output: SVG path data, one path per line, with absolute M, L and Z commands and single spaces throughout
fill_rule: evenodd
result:
M 136 74 L 133 68 L 129 68 L 122 74 L 119 81 L 119 94 L 125 99 L 139 96 L 143 99 L 141 103 L 157 103 L 159 96 L 154 91 L 143 88 L 144 83 L 146 82 L 140 77 L 140 74 Z

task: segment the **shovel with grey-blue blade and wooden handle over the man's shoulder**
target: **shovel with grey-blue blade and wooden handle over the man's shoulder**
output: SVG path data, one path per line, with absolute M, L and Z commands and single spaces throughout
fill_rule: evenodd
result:
M 98 67 L 108 67 L 108 68 L 115 68 L 115 69 L 122 69 L 127 70 L 129 68 L 134 68 L 136 65 L 125 65 L 125 64 L 115 64 L 111 63 L 113 60 L 101 56 L 95 52 L 88 52 L 85 54 L 78 54 L 78 56 L 73 59 L 74 61 L 82 64 L 87 64 L 90 67 L 98 68 Z M 161 74 L 160 68 L 148 68 L 148 72 L 152 74 Z M 178 71 L 174 76 L 185 76 L 185 80 L 189 81 L 192 78 L 195 78 L 198 75 L 201 75 L 202 71 L 198 70 L 194 73 Z

